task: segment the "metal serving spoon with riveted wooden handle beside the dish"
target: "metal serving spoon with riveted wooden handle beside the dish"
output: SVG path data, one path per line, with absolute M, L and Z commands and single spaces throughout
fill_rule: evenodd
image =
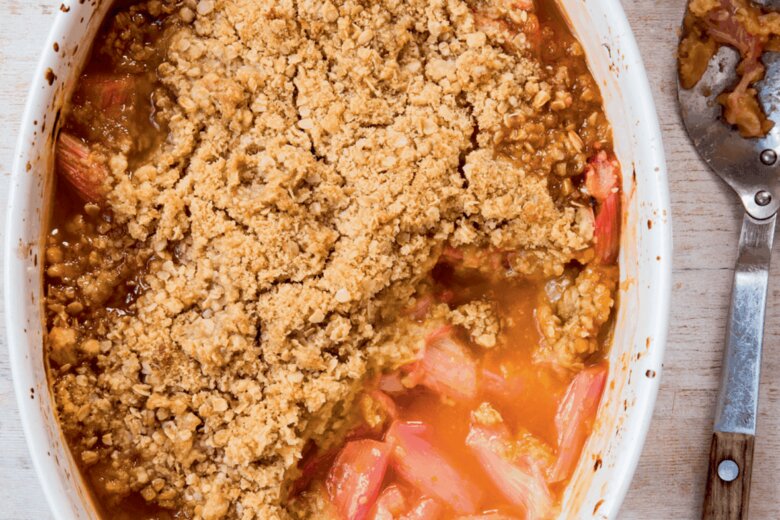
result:
M 780 8 L 780 0 L 758 1 Z M 702 518 L 748 518 L 753 445 L 769 263 L 780 209 L 780 53 L 765 53 L 767 71 L 756 85 L 775 126 L 745 139 L 721 119 L 716 98 L 737 83 L 739 53 L 721 47 L 692 89 L 678 82 L 683 123 L 709 167 L 739 195 L 745 208 L 726 327 L 721 384 L 710 445 Z

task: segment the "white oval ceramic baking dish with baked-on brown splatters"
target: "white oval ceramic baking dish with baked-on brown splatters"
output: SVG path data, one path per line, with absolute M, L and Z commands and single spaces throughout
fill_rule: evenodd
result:
M 610 382 L 561 515 L 607 519 L 617 516 L 628 490 L 658 390 L 671 287 L 669 196 L 655 106 L 619 0 L 561 1 L 601 85 L 626 194 Z M 108 7 L 109 2 L 66 0 L 56 15 L 30 90 L 8 205 L 4 283 L 14 385 L 34 466 L 60 519 L 95 513 L 61 438 L 44 371 L 45 200 L 59 111 Z

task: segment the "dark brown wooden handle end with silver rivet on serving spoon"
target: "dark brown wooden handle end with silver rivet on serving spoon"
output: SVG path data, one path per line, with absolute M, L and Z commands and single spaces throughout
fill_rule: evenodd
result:
M 703 520 L 747 520 L 754 441 L 742 433 L 712 435 Z

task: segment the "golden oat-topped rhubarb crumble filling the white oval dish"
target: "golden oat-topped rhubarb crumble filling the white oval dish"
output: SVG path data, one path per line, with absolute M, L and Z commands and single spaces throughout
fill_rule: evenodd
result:
M 554 1 L 118 2 L 63 120 L 45 348 L 103 517 L 556 514 L 622 213 Z

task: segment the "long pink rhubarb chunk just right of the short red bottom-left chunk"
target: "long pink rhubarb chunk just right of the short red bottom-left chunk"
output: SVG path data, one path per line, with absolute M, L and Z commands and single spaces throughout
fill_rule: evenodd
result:
M 386 441 L 393 446 L 393 469 L 421 493 L 441 500 L 456 512 L 476 512 L 479 489 L 431 444 L 428 430 L 420 423 L 396 421 L 390 426 Z

